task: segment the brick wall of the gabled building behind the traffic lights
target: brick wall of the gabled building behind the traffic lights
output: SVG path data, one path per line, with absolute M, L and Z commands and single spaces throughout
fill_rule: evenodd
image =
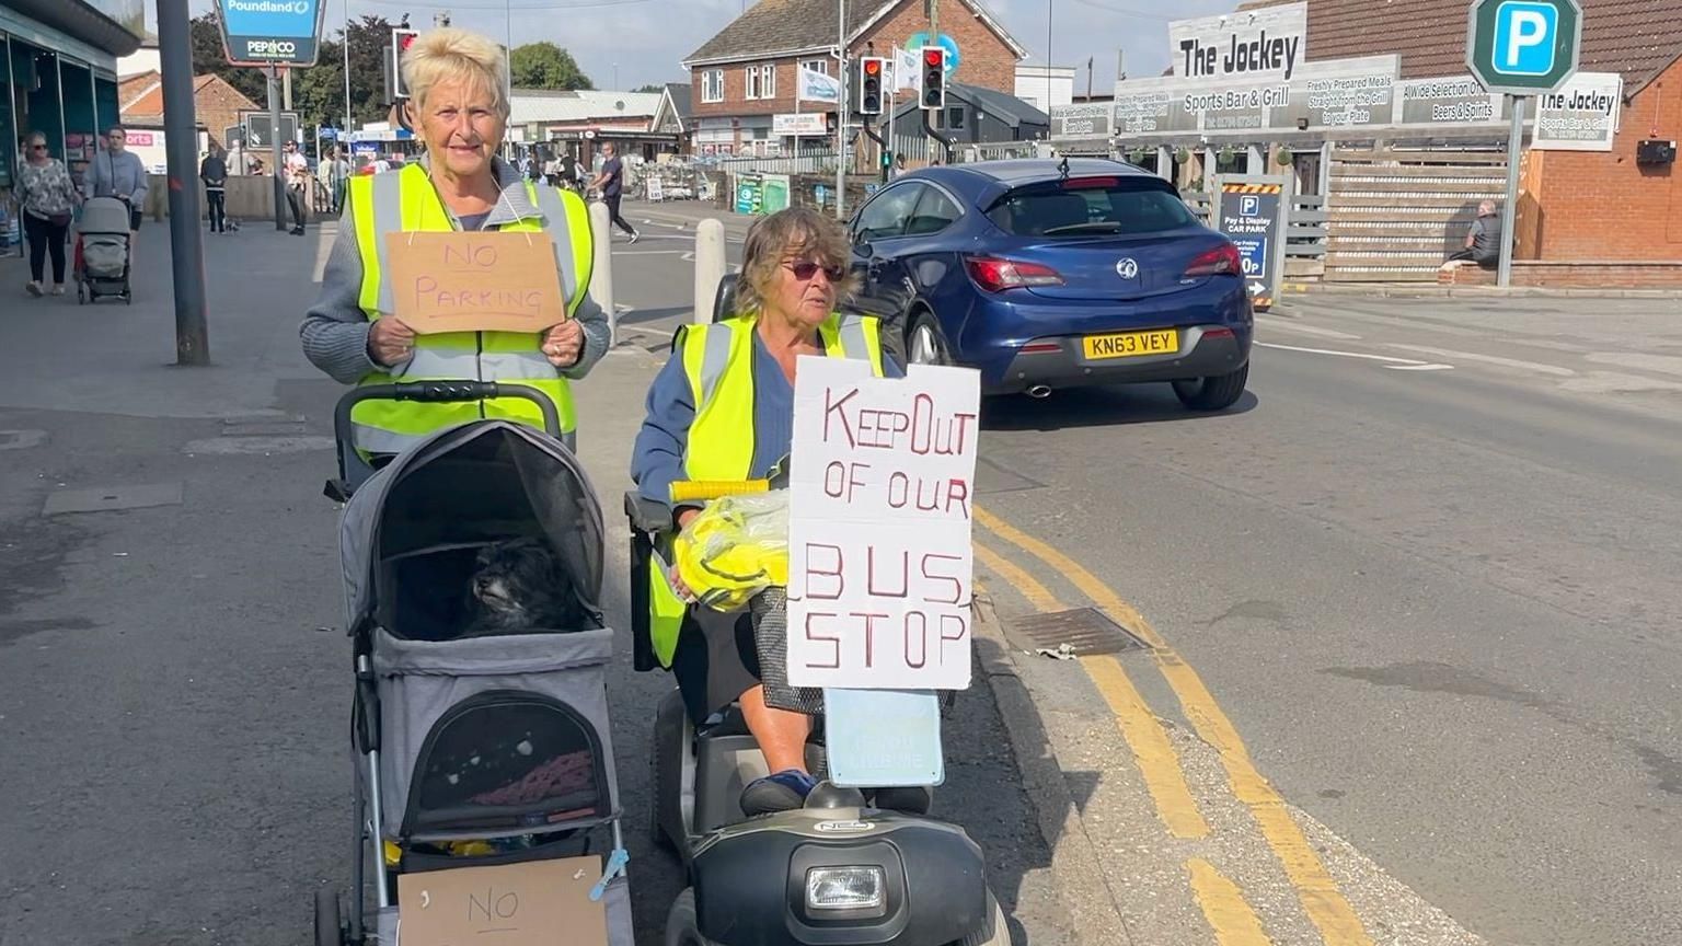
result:
M 918 30 L 928 29 L 922 0 L 905 0 L 900 7 L 876 24 L 853 49 L 851 56 L 865 54 L 865 42 L 876 44 L 878 56 L 888 56 L 895 45 Z M 940 32 L 957 40 L 960 64 L 952 81 L 969 86 L 982 86 L 1014 94 L 1016 89 L 1016 54 L 987 25 L 976 17 L 960 0 L 940 0 Z M 777 114 L 794 111 L 794 82 L 797 79 L 797 62 L 806 59 L 822 59 L 821 54 L 802 56 L 799 59 L 775 59 L 764 62 L 732 62 L 728 66 L 700 66 L 690 72 L 695 86 L 696 118 L 725 118 L 747 114 Z M 748 99 L 747 69 L 774 62 L 777 66 L 777 94 L 769 99 Z M 725 99 L 722 103 L 703 103 L 703 76 L 711 69 L 723 69 Z M 834 62 L 831 61 L 831 74 Z M 817 103 L 801 103 L 802 111 L 812 111 Z

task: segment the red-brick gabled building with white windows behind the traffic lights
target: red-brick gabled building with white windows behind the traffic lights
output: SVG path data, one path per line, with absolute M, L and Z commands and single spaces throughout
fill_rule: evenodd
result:
M 935 2 L 940 34 L 959 52 L 952 81 L 1011 94 L 1023 45 L 976 0 Z M 848 7 L 848 57 L 865 56 L 870 45 L 886 56 L 895 45 L 928 37 L 925 0 L 854 0 Z M 690 54 L 683 66 L 695 93 L 695 151 L 792 153 L 796 140 L 774 135 L 772 116 L 826 111 L 821 103 L 796 104 L 794 89 L 801 66 L 838 74 L 839 29 L 834 0 L 760 0 Z

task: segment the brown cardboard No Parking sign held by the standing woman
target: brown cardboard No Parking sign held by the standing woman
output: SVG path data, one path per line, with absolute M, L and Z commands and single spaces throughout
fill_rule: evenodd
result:
M 548 234 L 385 234 L 385 278 L 404 325 L 434 332 L 543 332 L 567 320 Z

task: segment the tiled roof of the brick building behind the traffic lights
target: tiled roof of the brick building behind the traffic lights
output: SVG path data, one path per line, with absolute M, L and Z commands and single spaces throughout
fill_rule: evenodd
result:
M 870 0 L 854 0 L 848 3 L 848 40 L 856 39 L 860 30 L 905 2 L 878 0 L 871 3 Z M 1023 45 L 1016 42 L 1016 37 L 1004 30 L 1004 25 L 999 24 L 997 17 L 981 0 L 962 0 L 962 3 L 979 13 L 982 22 L 999 34 L 999 39 L 1006 45 L 1018 50 L 1018 56 L 1026 54 Z M 713 39 L 685 57 L 685 64 L 834 47 L 841 25 L 836 13 L 836 0 L 759 0 L 745 13 L 730 20 L 730 25 L 718 30 Z

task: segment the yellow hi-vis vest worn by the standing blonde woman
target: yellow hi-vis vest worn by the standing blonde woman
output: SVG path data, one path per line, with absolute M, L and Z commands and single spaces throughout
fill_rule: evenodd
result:
M 543 214 L 503 224 L 503 231 L 547 232 L 553 241 L 560 268 L 560 290 L 567 315 L 579 311 L 590 284 L 595 259 L 590 239 L 590 214 L 584 200 L 570 190 L 526 183 L 532 204 Z M 357 222 L 357 249 L 362 251 L 362 311 L 372 323 L 392 311 L 392 288 L 385 274 L 385 234 L 451 231 L 454 222 L 432 187 L 424 167 L 405 165 L 399 172 L 350 178 L 352 217 Z M 572 389 L 555 365 L 543 357 L 543 338 L 533 332 L 442 332 L 417 335 L 409 364 L 392 372 L 375 370 L 360 384 L 409 380 L 501 380 L 523 384 L 547 394 L 560 414 L 562 433 L 577 428 Z M 442 428 L 501 417 L 543 426 L 543 414 L 530 401 L 498 397 L 461 404 L 415 404 L 399 401 L 363 401 L 352 412 L 357 448 L 368 453 L 402 453 Z

